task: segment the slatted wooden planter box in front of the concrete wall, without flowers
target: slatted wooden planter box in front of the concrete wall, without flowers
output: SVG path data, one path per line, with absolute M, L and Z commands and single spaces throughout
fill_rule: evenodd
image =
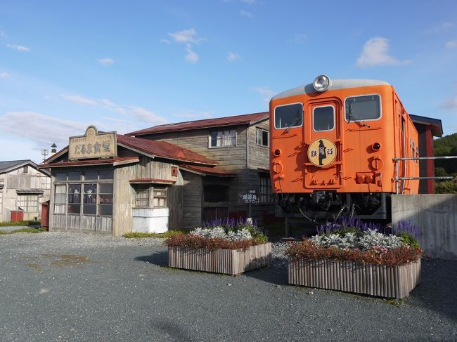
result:
M 420 259 L 401 266 L 289 258 L 289 284 L 404 298 L 420 282 Z

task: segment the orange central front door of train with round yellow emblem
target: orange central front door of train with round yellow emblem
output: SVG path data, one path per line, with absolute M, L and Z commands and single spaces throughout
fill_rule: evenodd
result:
M 335 189 L 342 186 L 341 113 L 336 100 L 311 102 L 304 108 L 307 145 L 304 187 Z

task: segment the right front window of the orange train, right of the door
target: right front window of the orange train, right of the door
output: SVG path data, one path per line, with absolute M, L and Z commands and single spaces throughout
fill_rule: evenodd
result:
M 352 96 L 345 101 L 346 121 L 375 120 L 381 117 L 379 95 Z

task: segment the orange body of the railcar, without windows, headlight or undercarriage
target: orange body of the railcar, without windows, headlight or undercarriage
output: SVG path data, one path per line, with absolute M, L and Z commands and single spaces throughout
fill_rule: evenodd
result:
M 321 93 L 305 91 L 307 86 L 304 91 L 288 91 L 271 99 L 270 170 L 274 192 L 395 193 L 394 158 L 418 157 L 418 132 L 393 86 L 382 81 L 366 86 L 363 80 L 360 86 L 354 86 L 358 80 L 352 80 L 352 86 L 345 87 L 347 80 L 341 81 L 341 86 Z M 363 120 L 348 115 L 347 98 L 373 94 L 380 98 L 380 117 Z M 275 110 L 290 104 L 302 105 L 301 125 L 277 127 Z M 315 130 L 314 112 L 319 107 L 333 107 L 333 128 Z M 320 151 L 319 146 L 325 154 L 317 162 L 313 157 Z M 398 176 L 418 177 L 418 161 L 399 162 Z M 418 183 L 400 181 L 399 193 L 417 194 Z

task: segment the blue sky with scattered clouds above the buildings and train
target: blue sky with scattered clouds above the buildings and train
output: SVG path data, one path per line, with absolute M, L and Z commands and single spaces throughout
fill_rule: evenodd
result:
M 94 124 L 268 110 L 330 78 L 381 79 L 457 132 L 454 1 L 0 2 L 0 160 L 41 160 Z

